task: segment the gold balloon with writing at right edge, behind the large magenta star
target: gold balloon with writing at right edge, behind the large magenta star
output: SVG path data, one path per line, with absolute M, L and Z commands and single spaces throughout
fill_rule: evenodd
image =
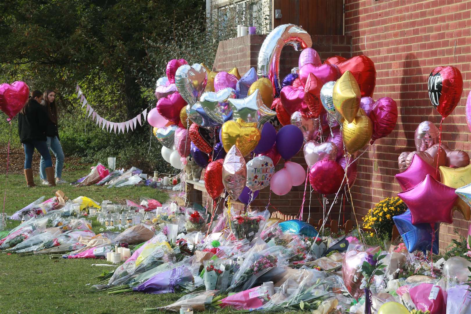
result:
M 471 165 L 461 168 L 440 166 L 441 182 L 444 185 L 458 189 L 471 183 Z M 466 220 L 471 217 L 471 208 L 460 197 L 455 201 L 454 210 L 461 212 Z

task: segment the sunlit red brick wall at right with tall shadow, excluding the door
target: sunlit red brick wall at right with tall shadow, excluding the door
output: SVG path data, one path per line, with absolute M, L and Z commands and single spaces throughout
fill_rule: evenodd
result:
M 400 188 L 394 175 L 399 153 L 415 150 L 414 130 L 421 121 L 439 125 L 441 117 L 427 94 L 428 76 L 436 66 L 454 65 L 464 80 L 461 101 L 443 123 L 442 141 L 451 149 L 470 151 L 464 116 L 471 88 L 470 13 L 470 0 L 345 0 L 345 34 L 352 38 L 352 56 L 364 54 L 374 61 L 374 99 L 392 97 L 399 107 L 396 129 L 377 140 L 376 151 L 359 162 L 353 189 L 357 214 L 397 195 Z M 453 225 L 440 227 L 440 249 L 450 243 L 454 230 L 466 234 L 467 228 L 468 222 L 455 212 Z

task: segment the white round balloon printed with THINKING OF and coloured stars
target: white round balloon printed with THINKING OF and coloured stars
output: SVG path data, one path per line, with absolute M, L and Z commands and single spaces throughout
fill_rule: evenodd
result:
M 247 187 L 251 191 L 261 190 L 270 185 L 271 177 L 275 173 L 275 165 L 270 157 L 255 157 L 247 162 Z

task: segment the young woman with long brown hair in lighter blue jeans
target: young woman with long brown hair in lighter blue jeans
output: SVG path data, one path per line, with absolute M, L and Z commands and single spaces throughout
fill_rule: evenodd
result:
M 46 127 L 47 145 L 48 149 L 56 156 L 56 183 L 67 183 L 62 180 L 62 169 L 64 168 L 64 152 L 62 151 L 62 145 L 59 141 L 59 131 L 57 129 L 57 105 L 56 105 L 56 93 L 52 89 L 46 89 L 44 92 L 44 106 L 48 113 L 48 121 Z M 46 174 L 46 161 L 41 157 L 41 164 L 39 172 L 41 175 L 41 183 L 43 185 L 49 184 L 49 179 Z

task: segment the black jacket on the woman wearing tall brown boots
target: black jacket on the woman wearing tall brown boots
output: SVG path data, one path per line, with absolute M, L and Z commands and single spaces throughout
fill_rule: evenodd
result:
M 18 134 L 21 143 L 46 141 L 48 113 L 43 105 L 32 99 L 26 114 L 18 114 Z

